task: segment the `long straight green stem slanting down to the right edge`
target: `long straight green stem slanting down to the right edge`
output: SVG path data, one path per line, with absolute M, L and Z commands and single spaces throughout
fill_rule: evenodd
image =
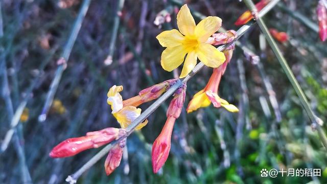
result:
M 313 128 L 316 128 L 318 130 L 318 135 L 320 137 L 320 140 L 322 142 L 322 144 L 325 146 L 325 148 L 327 148 L 327 137 L 324 134 L 323 130 L 321 129 L 321 125 L 323 124 L 322 120 L 319 119 L 315 113 L 313 112 L 313 110 L 310 107 L 310 104 L 305 96 L 305 94 L 303 93 L 300 85 L 298 84 L 297 80 L 295 79 L 289 65 L 287 64 L 287 61 L 285 60 L 282 52 L 279 50 L 276 42 L 274 41 L 274 39 L 272 38 L 272 36 L 270 35 L 268 28 L 266 27 L 265 22 L 261 19 L 261 17 L 258 14 L 258 10 L 256 10 L 253 2 L 251 0 L 244 0 L 245 5 L 249 8 L 249 10 L 252 12 L 252 15 L 254 16 L 256 22 L 258 23 L 261 31 L 263 32 L 263 34 L 265 35 L 268 43 L 270 44 L 271 49 L 273 50 L 273 52 L 275 53 L 279 63 L 282 65 L 282 68 L 284 70 L 284 72 L 286 73 L 289 81 L 291 82 L 293 88 L 296 91 L 297 96 L 299 97 L 303 107 L 305 108 L 306 112 L 309 115 L 309 118 L 312 122 L 312 126 Z

